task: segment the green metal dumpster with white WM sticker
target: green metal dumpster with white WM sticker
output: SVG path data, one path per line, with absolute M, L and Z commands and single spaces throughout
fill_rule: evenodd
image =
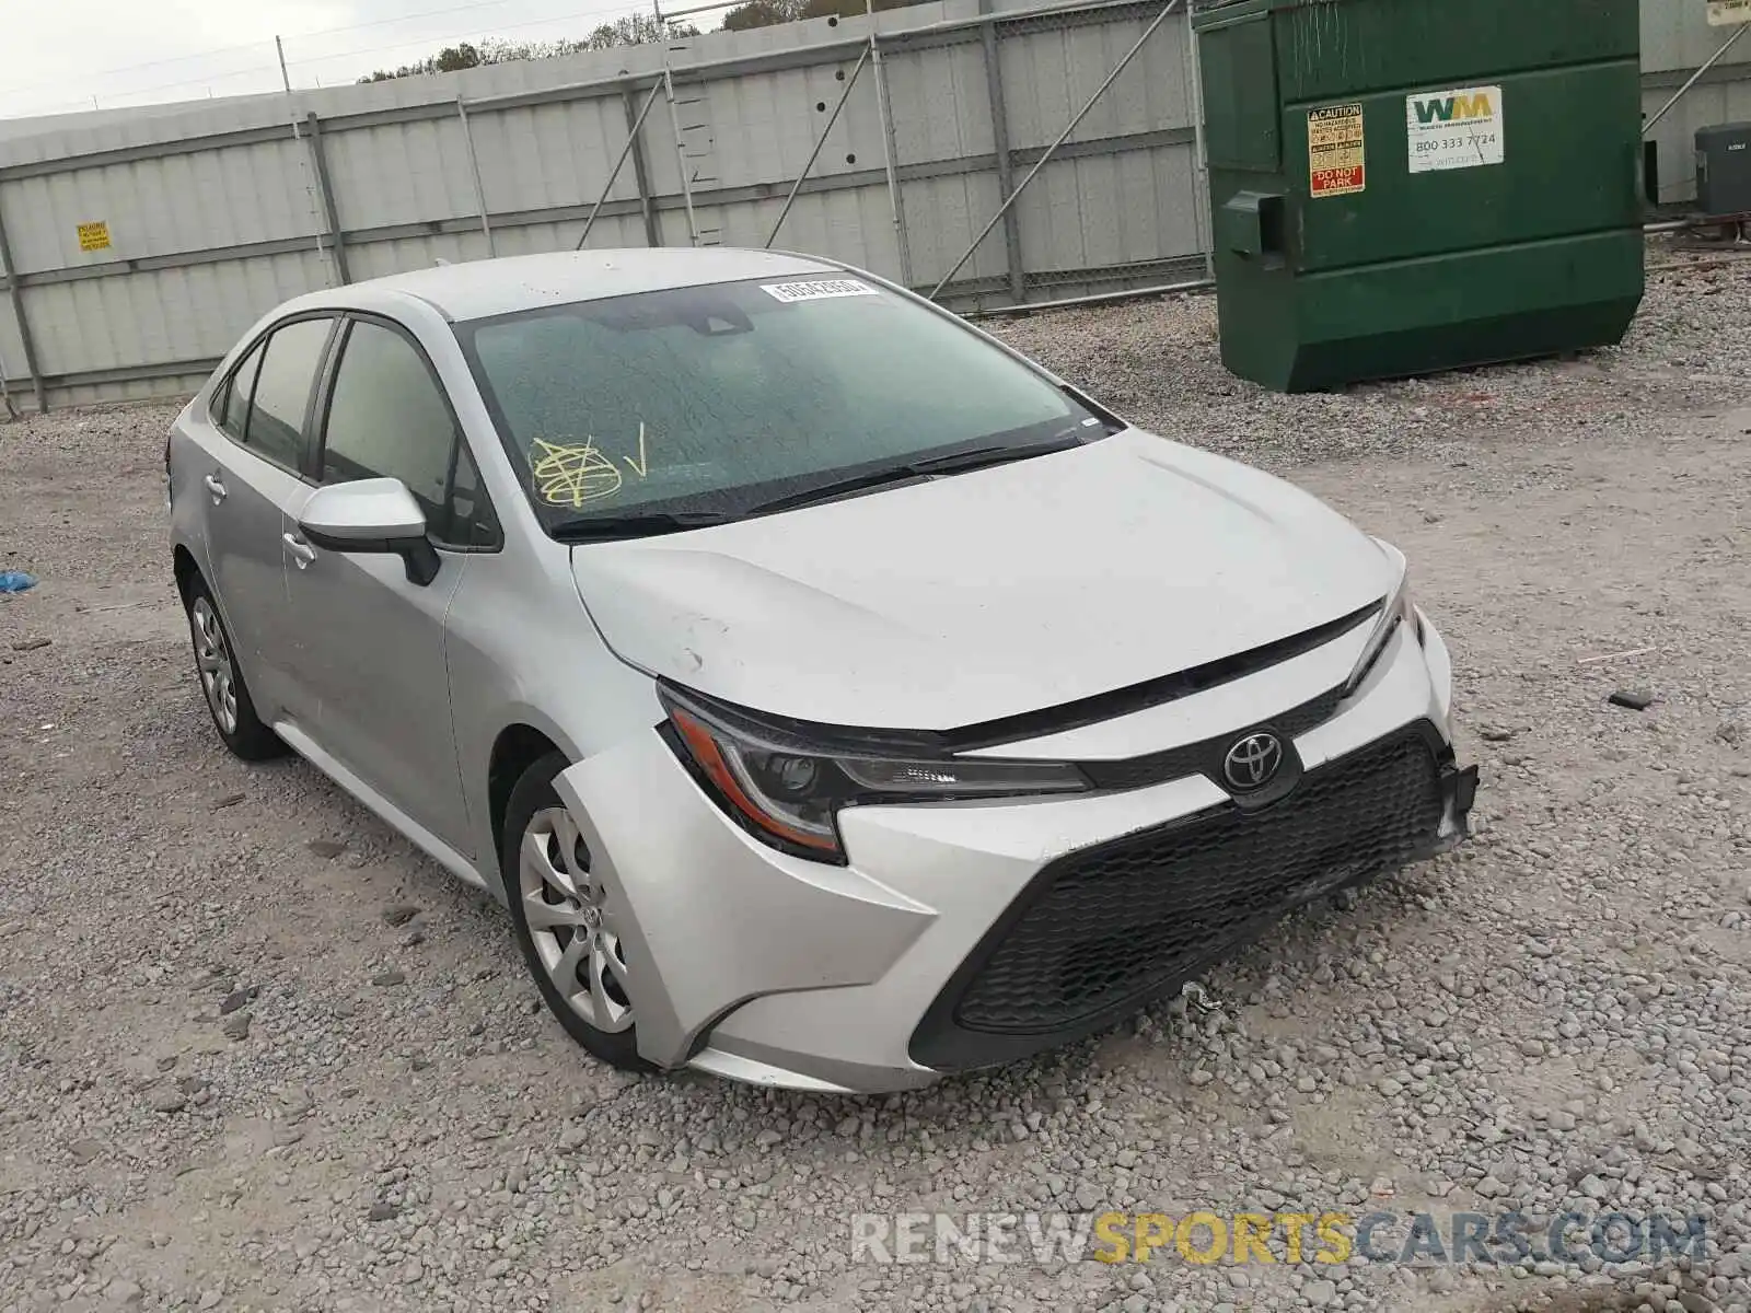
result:
M 1231 371 L 1299 392 L 1621 340 L 1637 0 L 1217 0 L 1192 23 Z

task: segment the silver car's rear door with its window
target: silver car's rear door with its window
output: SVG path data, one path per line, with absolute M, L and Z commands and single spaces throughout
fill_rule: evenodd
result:
M 310 408 L 334 319 L 275 326 L 191 425 L 207 560 L 231 642 L 266 721 L 292 711 L 285 515 L 310 495 Z

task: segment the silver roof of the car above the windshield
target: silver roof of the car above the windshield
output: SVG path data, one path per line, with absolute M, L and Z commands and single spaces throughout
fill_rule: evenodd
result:
M 564 250 L 436 264 L 359 282 L 345 291 L 357 299 L 359 308 L 369 308 L 368 303 L 376 301 L 378 292 L 401 292 L 427 301 L 450 320 L 468 320 L 669 287 L 835 271 L 837 264 L 776 250 L 650 247 Z M 334 292 L 315 292 L 285 308 L 303 308 L 303 301 L 312 301 L 312 306 L 315 303 L 333 306 L 334 299 Z

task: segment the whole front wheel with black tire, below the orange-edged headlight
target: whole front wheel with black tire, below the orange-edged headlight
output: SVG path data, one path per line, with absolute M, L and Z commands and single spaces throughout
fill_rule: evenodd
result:
M 590 877 L 590 853 L 553 790 L 567 765 L 564 753 L 548 753 L 522 774 L 504 807 L 499 870 L 517 947 L 573 1040 L 622 1071 L 655 1071 L 639 1057 L 613 898 Z M 543 924 L 531 926 L 531 916 Z

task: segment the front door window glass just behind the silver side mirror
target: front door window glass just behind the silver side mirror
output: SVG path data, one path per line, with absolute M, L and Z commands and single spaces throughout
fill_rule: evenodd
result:
M 322 439 L 322 481 L 399 478 L 443 546 L 494 539 L 480 473 L 438 380 L 399 333 L 359 320 L 334 373 Z

